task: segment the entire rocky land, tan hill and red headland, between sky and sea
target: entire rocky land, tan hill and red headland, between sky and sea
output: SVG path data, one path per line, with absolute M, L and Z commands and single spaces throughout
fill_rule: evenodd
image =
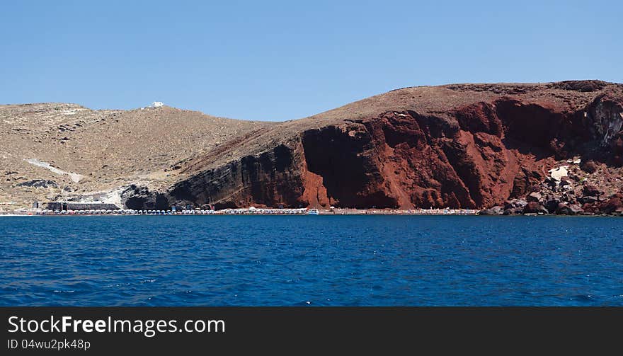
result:
M 32 109 L 50 115 L 51 105 Z M 100 190 L 108 192 L 105 199 L 131 208 L 623 211 L 621 84 L 403 88 L 278 123 L 173 108 L 100 112 L 60 105 L 59 110 L 81 113 L 35 132 L 33 116 L 24 114 L 32 111 L 28 105 L 0 107 L 0 138 L 29 147 L 12 149 L 11 161 L 0 167 L 6 176 L 0 200 L 27 201 L 40 191 L 56 200 L 84 200 Z M 76 122 L 82 126 L 72 126 Z M 72 130 L 62 131 L 62 125 Z M 1 154 L 6 159 L 6 152 Z M 25 159 L 86 178 L 59 178 Z

